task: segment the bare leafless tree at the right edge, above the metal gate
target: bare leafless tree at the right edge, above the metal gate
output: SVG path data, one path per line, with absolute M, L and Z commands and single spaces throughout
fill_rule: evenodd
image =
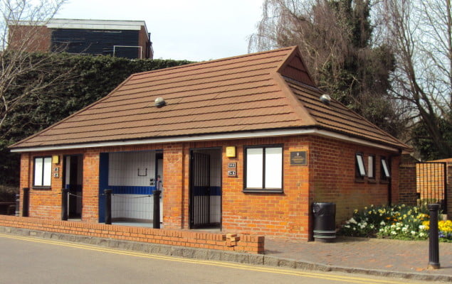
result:
M 451 0 L 383 0 L 380 15 L 396 69 L 392 93 L 409 107 L 438 153 L 452 156 L 452 16 Z

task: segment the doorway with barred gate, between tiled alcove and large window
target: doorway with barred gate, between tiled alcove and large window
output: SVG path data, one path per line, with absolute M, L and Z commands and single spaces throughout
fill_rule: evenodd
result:
M 190 228 L 221 228 L 221 148 L 190 151 Z

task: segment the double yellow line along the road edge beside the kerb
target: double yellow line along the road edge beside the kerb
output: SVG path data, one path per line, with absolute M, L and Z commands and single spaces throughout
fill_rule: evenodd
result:
M 6 239 L 17 239 L 21 241 L 30 241 L 35 243 L 41 243 L 41 244 L 53 244 L 56 246 L 65 246 L 75 249 L 85 249 L 89 251 L 98 251 L 103 253 L 115 253 L 120 254 L 124 256 L 135 256 L 140 258 L 151 258 L 151 259 L 158 259 L 162 261 L 176 261 L 176 262 L 182 262 L 182 263 L 194 263 L 194 264 L 203 264 L 206 266 L 218 266 L 218 267 L 224 267 L 224 268 L 234 268 L 234 269 L 241 269 L 246 271 L 258 271 L 258 272 L 266 272 L 266 273 L 276 273 L 276 274 L 284 274 L 284 275 L 295 275 L 295 276 L 303 276 L 308 278 L 321 278 L 325 280 L 336 280 L 336 281 L 342 281 L 347 283 L 375 283 L 375 284 L 406 284 L 405 282 L 398 282 L 398 281 L 391 281 L 391 280 L 375 280 L 372 278 L 359 278 L 354 276 L 342 276 L 342 275 L 325 275 L 322 273 L 313 273 L 313 272 L 305 272 L 305 271 L 296 271 L 296 270 L 289 270 L 284 268 L 268 268 L 265 266 L 251 266 L 246 265 L 243 263 L 227 263 L 227 262 L 221 262 L 221 261 L 203 261 L 198 259 L 191 259 L 191 258 L 179 258 L 177 256 L 159 256 L 151 253 L 140 253 L 135 251 L 121 251 L 117 249 L 108 249 L 98 246 L 91 246 L 91 245 L 85 245 L 85 244 L 75 244 L 75 243 L 68 243 L 65 241 L 52 241 L 48 239 L 37 239 L 33 237 L 28 236 L 12 236 L 7 234 L 0 234 L 0 237 L 6 238 Z

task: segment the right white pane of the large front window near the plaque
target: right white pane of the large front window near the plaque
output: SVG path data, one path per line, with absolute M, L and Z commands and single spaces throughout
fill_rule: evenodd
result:
M 283 188 L 283 148 L 266 148 L 266 188 Z

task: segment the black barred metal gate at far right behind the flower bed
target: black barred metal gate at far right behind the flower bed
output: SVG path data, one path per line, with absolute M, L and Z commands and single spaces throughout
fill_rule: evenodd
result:
M 446 163 L 416 163 L 416 192 L 421 203 L 438 203 L 447 213 Z

